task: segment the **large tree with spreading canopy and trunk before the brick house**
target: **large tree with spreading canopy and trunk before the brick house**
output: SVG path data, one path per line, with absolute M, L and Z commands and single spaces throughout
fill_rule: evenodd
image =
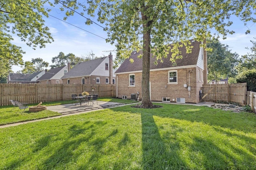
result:
M 119 59 L 128 58 L 134 49 L 142 49 L 141 107 L 152 106 L 150 53 L 161 60 L 170 51 L 167 44 L 172 42 L 170 60 L 176 61 L 181 58 L 178 42 L 186 45 L 189 53 L 188 39 L 194 37 L 197 41 L 204 41 L 212 28 L 225 37 L 227 33 L 233 33 L 227 29 L 232 24 L 229 21 L 232 14 L 244 21 L 255 21 L 250 16 L 256 8 L 254 0 L 87 0 L 87 4 L 77 0 L 55 0 L 55 3 L 67 9 L 67 16 L 73 15 L 73 9 L 79 6 L 92 18 L 97 14 L 98 21 L 106 24 L 107 42 L 116 43 Z

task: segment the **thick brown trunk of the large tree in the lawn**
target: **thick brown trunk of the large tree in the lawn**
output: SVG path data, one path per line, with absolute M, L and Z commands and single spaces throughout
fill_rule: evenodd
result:
M 142 14 L 142 21 L 146 21 L 146 16 Z M 150 22 L 143 24 L 143 51 L 142 51 L 142 104 L 141 107 L 149 108 L 153 106 L 150 100 L 149 76 L 150 76 Z

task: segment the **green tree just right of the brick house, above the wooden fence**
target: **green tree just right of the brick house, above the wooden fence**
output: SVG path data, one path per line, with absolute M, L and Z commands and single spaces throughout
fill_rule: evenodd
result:
M 207 47 L 211 50 L 207 53 L 208 82 L 219 81 L 226 77 L 235 77 L 235 69 L 238 64 L 238 54 L 231 53 L 228 45 L 220 43 L 218 39 L 208 39 Z

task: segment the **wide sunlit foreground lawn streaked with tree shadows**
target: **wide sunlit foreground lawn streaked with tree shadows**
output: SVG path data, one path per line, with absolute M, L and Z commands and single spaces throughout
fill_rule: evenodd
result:
M 130 106 L 0 129 L 0 169 L 256 169 L 256 115 Z

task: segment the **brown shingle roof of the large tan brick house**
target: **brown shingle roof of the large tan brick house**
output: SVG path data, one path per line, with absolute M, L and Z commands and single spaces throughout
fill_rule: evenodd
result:
M 156 57 L 152 57 L 152 54 L 150 54 L 150 70 L 197 64 L 198 55 L 200 52 L 200 44 L 201 43 L 198 41 L 192 42 L 192 45 L 193 45 L 192 53 L 189 53 L 189 54 L 186 53 L 186 47 L 180 47 L 179 50 L 181 51 L 182 59 L 177 59 L 175 66 L 173 66 L 173 63 L 170 61 L 170 57 L 172 56 L 172 53 L 169 53 L 167 58 L 163 58 L 163 63 L 161 63 L 160 60 L 158 60 L 157 61 L 158 64 L 154 64 Z M 141 71 L 142 58 L 141 59 L 138 58 L 138 55 L 140 54 L 142 54 L 142 51 L 139 51 L 138 53 L 132 52 L 130 57 L 120 65 L 120 67 L 116 70 L 115 73 Z M 133 59 L 134 62 L 130 63 L 129 61 L 130 59 Z

